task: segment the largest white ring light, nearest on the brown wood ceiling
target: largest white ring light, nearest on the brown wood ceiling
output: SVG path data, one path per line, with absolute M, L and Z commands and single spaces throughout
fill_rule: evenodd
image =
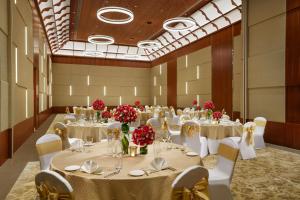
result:
M 103 14 L 105 14 L 105 13 L 121 13 L 121 14 L 127 15 L 128 17 L 125 19 L 110 19 L 110 18 L 103 16 Z M 109 6 L 109 7 L 100 8 L 97 11 L 97 18 L 100 21 L 103 21 L 103 22 L 106 22 L 109 24 L 127 24 L 134 19 L 134 15 L 131 10 L 128 10 L 126 8 Z

